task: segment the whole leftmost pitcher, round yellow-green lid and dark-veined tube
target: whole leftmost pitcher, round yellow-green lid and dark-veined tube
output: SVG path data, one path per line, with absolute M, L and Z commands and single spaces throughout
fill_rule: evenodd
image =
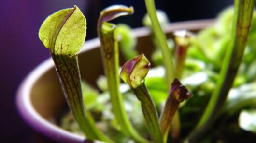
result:
M 50 50 L 64 95 L 74 119 L 85 132 L 86 138 L 112 142 L 96 127 L 93 118 L 84 107 L 77 53 L 85 41 L 85 32 L 85 17 L 74 6 L 47 17 L 39 30 L 39 38 Z

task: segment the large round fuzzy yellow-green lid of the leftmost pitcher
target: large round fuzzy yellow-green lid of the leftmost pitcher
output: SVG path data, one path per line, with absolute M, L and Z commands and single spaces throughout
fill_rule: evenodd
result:
M 85 16 L 76 6 L 48 16 L 39 30 L 39 38 L 46 48 L 69 56 L 81 50 L 85 35 Z

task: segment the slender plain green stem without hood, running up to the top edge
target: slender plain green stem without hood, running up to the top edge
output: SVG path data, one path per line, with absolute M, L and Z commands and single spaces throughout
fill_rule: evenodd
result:
M 166 69 L 166 78 L 167 78 L 167 87 L 171 87 L 171 82 L 174 79 L 174 70 L 173 70 L 173 60 L 171 56 L 171 51 L 168 48 L 166 36 L 161 28 L 161 25 L 156 16 L 156 8 L 154 0 L 145 0 L 147 12 L 152 23 L 152 29 L 155 33 L 157 43 L 159 44 L 162 54 L 163 54 L 163 63 Z

